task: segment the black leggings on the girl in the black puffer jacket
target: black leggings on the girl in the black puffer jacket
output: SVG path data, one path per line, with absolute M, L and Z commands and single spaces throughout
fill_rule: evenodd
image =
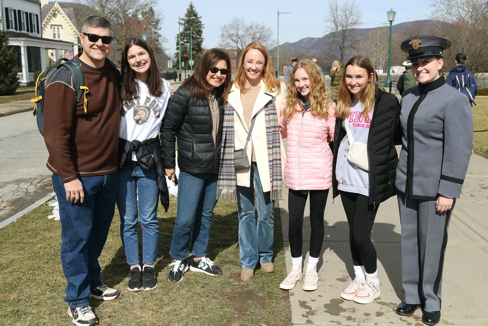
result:
M 342 205 L 349 223 L 349 245 L 355 266 L 365 266 L 366 273 L 376 271 L 376 249 L 371 243 L 371 230 L 378 211 L 368 204 L 369 197 L 341 192 Z

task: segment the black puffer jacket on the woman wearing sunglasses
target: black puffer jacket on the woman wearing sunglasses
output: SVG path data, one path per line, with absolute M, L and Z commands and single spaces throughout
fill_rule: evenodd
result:
M 190 97 L 190 85 L 182 85 L 169 98 L 161 128 L 163 165 L 174 168 L 178 138 L 178 167 L 189 174 L 219 173 L 224 103 L 219 103 L 220 124 L 216 142 L 208 100 Z

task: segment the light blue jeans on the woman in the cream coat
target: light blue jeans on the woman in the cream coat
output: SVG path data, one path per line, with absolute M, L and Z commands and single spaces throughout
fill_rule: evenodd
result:
M 239 255 L 242 268 L 254 269 L 258 261 L 267 263 L 273 258 L 274 200 L 270 199 L 271 192 L 263 193 L 256 162 L 251 164 L 250 177 L 250 187 L 237 186 Z M 254 190 L 258 205 L 257 224 Z

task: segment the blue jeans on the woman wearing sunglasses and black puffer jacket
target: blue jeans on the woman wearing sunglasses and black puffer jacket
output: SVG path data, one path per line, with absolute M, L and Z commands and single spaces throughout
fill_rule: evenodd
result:
M 178 208 L 169 254 L 183 261 L 190 251 L 194 257 L 207 254 L 212 214 L 217 204 L 218 174 L 188 174 L 180 171 Z M 193 228 L 193 235 L 192 235 Z

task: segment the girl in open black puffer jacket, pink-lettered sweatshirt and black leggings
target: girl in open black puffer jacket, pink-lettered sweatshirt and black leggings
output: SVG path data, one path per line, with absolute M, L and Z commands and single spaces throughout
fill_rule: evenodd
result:
M 368 57 L 346 63 L 336 109 L 333 196 L 341 201 L 349 223 L 354 280 L 341 293 L 344 300 L 368 304 L 380 295 L 376 249 L 371 230 L 380 203 L 395 195 L 395 149 L 400 104 L 395 95 L 376 84 Z M 351 137 L 353 140 L 351 140 Z M 353 144 L 366 146 L 366 163 L 349 161 Z M 360 163 L 360 162 L 356 162 Z

